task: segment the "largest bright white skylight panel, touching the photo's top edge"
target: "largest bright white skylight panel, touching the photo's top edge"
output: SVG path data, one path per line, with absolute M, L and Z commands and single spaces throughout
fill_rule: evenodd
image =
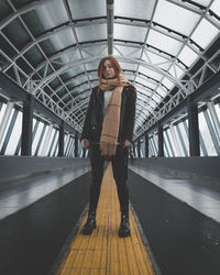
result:
M 198 14 L 189 10 L 161 0 L 158 1 L 153 21 L 182 34 L 189 35 L 199 18 Z

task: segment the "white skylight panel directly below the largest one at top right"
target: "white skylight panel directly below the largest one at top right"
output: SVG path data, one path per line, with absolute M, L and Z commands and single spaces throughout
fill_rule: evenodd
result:
M 177 55 L 183 43 L 169 36 L 166 36 L 165 34 L 151 30 L 148 34 L 147 44 L 160 48 L 168 54 Z

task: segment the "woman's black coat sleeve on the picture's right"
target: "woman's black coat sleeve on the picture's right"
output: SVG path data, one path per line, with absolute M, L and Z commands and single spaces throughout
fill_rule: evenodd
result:
M 127 121 L 125 121 L 125 134 L 124 134 L 124 139 L 129 140 L 130 142 L 132 142 L 133 139 L 135 107 L 136 107 L 136 91 L 132 86 L 130 86 L 125 106 Z

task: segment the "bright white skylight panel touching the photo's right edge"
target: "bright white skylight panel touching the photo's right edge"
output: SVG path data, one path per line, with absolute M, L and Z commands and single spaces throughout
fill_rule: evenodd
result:
M 196 31 L 193 33 L 191 38 L 202 48 L 207 48 L 218 33 L 219 30 L 215 25 L 209 23 L 206 19 L 202 19 Z

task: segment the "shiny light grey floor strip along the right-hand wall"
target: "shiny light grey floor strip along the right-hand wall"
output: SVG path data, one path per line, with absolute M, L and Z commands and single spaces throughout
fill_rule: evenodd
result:
M 167 174 L 161 174 L 148 167 L 141 167 L 134 164 L 130 169 L 141 175 L 148 182 L 170 194 L 175 198 L 186 202 L 194 209 L 220 222 L 220 191 L 211 187 L 201 186 L 198 179 L 183 179 Z

